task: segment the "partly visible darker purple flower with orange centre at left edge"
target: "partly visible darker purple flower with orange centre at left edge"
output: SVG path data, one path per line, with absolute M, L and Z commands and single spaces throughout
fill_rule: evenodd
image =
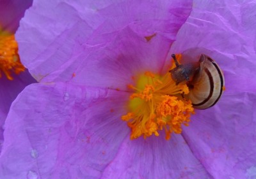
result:
M 4 0 L 0 4 L 0 151 L 3 143 L 3 125 L 12 101 L 26 85 L 35 82 L 20 64 L 13 35 L 19 26 L 20 18 L 31 3 L 32 1 Z

